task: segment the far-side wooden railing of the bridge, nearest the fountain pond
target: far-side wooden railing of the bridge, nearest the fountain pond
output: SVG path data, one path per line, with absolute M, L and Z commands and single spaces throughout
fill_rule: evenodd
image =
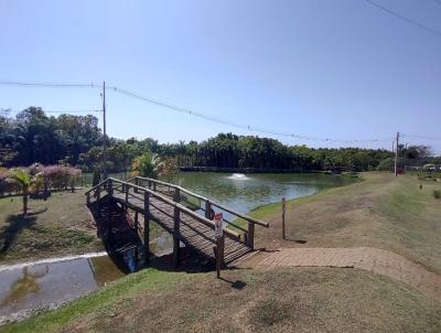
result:
M 228 212 L 236 218 L 241 218 L 241 219 L 246 221 L 247 227 L 243 227 L 243 226 L 238 225 L 237 223 L 234 223 L 233 221 L 228 221 L 227 218 L 224 217 L 224 222 L 227 225 L 230 225 L 230 226 L 235 227 L 236 229 L 243 232 L 244 243 L 251 249 L 254 249 L 254 244 L 255 244 L 255 239 L 254 239 L 255 238 L 255 225 L 269 227 L 269 224 L 265 221 L 260 221 L 260 219 L 250 217 L 248 215 L 241 214 L 241 213 L 234 211 L 220 203 L 209 200 L 201 194 L 189 191 L 176 184 L 166 183 L 163 181 L 159 181 L 159 180 L 154 180 L 154 179 L 150 179 L 150 178 L 142 178 L 142 176 L 136 176 L 136 178 L 129 180 L 129 182 L 133 182 L 136 185 L 146 186 L 155 193 L 159 192 L 165 196 L 172 197 L 174 202 L 185 201 L 186 204 L 190 204 L 190 206 L 194 206 L 195 208 L 203 211 L 205 214 L 205 218 L 207 218 L 208 221 L 213 218 L 214 207 L 217 207 L 218 210 L 222 210 L 224 212 Z M 230 230 L 230 229 L 228 229 L 228 230 Z

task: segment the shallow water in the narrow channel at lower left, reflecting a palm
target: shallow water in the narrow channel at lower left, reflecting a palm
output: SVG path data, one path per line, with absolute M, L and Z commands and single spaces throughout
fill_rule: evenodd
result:
M 0 271 L 0 324 L 54 309 L 121 278 L 107 256 L 47 260 Z

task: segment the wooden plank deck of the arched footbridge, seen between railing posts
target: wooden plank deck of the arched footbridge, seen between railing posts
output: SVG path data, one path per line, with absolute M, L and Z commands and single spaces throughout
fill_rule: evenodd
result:
M 114 198 L 121 204 L 126 204 L 126 194 L 115 192 Z M 144 200 L 142 194 L 137 194 L 130 189 L 127 206 L 136 212 L 143 214 Z M 158 198 L 150 197 L 149 211 L 152 221 L 157 222 L 162 228 L 170 234 L 174 234 L 174 207 Z M 194 217 L 189 216 L 181 212 L 180 214 L 180 233 L 179 239 L 186 247 L 190 247 L 197 253 L 202 254 L 207 259 L 215 259 L 214 246 L 215 236 L 214 230 L 197 222 Z M 237 239 L 225 237 L 224 244 L 224 261 L 226 265 L 250 253 L 250 248 Z

